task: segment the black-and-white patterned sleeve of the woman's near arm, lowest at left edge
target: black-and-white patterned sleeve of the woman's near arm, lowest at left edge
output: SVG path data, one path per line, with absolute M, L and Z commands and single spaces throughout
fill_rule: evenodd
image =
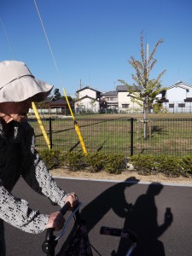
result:
M 38 234 L 44 231 L 49 215 L 30 209 L 27 201 L 16 198 L 0 185 L 0 218 L 20 230 Z

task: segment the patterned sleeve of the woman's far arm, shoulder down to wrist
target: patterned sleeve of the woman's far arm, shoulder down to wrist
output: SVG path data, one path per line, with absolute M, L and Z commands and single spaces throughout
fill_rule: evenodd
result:
M 22 151 L 24 160 L 22 177 L 24 177 L 26 183 L 39 194 L 45 195 L 50 201 L 63 207 L 67 193 L 57 186 L 44 161 L 35 149 L 35 138 L 32 127 L 27 131 L 27 137 L 25 143 L 22 145 Z

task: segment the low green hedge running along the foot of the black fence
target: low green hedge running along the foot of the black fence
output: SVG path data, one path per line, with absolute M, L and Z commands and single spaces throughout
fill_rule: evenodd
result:
M 63 152 L 55 149 L 40 151 L 41 157 L 49 169 L 62 167 L 65 170 L 120 174 L 123 171 L 138 172 L 142 175 L 162 173 L 167 177 L 192 177 L 192 155 L 167 156 L 138 154 L 130 158 L 124 154 L 106 154 L 102 152 Z M 131 168 L 130 168 L 131 166 Z

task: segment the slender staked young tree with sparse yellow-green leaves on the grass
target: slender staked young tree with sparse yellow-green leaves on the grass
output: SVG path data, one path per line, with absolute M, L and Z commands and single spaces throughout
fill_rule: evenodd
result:
M 148 109 L 153 108 L 155 97 L 160 94 L 162 90 L 162 85 L 160 84 L 160 79 L 162 75 L 166 72 L 166 70 L 162 71 L 156 79 L 149 79 L 150 72 L 154 68 L 157 60 L 154 59 L 154 54 L 156 49 L 160 44 L 163 43 L 163 39 L 161 38 L 154 45 L 154 49 L 151 54 L 148 56 L 148 44 L 147 49 L 144 49 L 143 45 L 143 32 L 140 37 L 140 46 L 141 46 L 141 61 L 135 59 L 134 56 L 131 56 L 131 60 L 129 63 L 135 69 L 136 74 L 131 74 L 131 78 L 133 79 L 133 85 L 127 84 L 124 80 L 119 81 L 122 84 L 127 86 L 127 90 L 129 92 L 128 96 L 131 96 L 132 102 L 137 102 L 138 105 L 143 107 L 144 113 L 144 138 L 147 138 L 147 119 L 148 119 Z M 139 92 L 138 92 L 139 88 Z M 136 90 L 137 89 L 137 90 Z

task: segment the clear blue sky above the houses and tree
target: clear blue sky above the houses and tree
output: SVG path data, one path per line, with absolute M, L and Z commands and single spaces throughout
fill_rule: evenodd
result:
M 140 59 L 140 33 L 149 53 L 160 39 L 157 64 L 163 86 L 192 84 L 191 0 L 36 0 L 60 76 L 33 0 L 0 0 L 0 60 L 24 61 L 38 78 L 67 95 L 90 86 L 114 90 L 132 84 L 128 61 Z M 2 26 L 3 23 L 3 26 Z

